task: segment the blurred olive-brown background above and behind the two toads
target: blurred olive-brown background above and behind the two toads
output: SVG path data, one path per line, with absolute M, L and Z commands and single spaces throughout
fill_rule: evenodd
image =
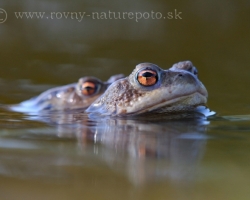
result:
M 249 1 L 0 1 L 0 103 L 17 103 L 85 75 L 106 80 L 136 64 L 191 60 L 220 114 L 250 112 Z M 182 19 L 167 19 L 175 10 Z M 160 12 L 165 19 L 17 19 L 15 12 Z M 3 14 L 0 17 L 3 17 Z M 178 17 L 177 17 L 178 18 Z M 8 89 L 6 87 L 8 86 Z M 36 86 L 36 87 L 32 87 Z M 10 97 L 12 96 L 12 98 Z

